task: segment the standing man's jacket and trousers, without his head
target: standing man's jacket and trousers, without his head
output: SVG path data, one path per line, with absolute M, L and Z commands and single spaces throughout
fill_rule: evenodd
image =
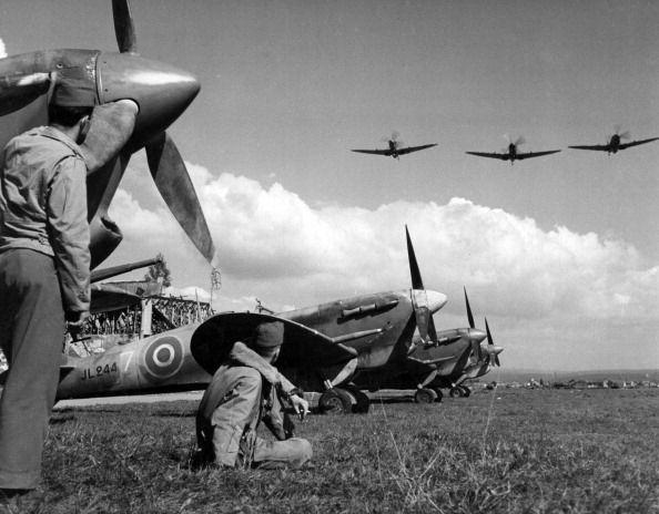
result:
M 89 310 L 87 166 L 52 126 L 0 157 L 0 489 L 33 489 L 59 381 L 64 312 Z

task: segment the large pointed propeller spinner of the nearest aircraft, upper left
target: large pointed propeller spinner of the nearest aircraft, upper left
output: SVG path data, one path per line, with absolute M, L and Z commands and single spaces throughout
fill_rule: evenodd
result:
M 169 127 L 201 88 L 186 71 L 131 53 L 101 53 L 97 80 L 101 103 L 130 99 L 140 106 L 133 148 Z

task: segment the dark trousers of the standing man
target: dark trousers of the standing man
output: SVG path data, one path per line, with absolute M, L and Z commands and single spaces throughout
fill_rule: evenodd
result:
M 0 253 L 0 347 L 9 372 L 0 399 L 0 489 L 33 489 L 59 381 L 64 312 L 52 257 Z

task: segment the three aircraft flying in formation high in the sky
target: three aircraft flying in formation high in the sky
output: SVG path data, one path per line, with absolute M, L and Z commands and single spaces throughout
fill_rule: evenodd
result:
M 510 161 L 510 164 L 514 164 L 515 161 L 524 161 L 525 158 L 533 158 L 533 157 L 541 157 L 544 155 L 551 155 L 557 154 L 560 150 L 546 150 L 541 152 L 520 152 L 519 146 L 526 143 L 523 136 L 519 136 L 514 142 L 510 141 L 510 137 L 507 135 L 505 136 L 508 140 L 508 145 L 501 152 L 465 152 L 469 155 L 475 155 L 477 157 L 488 157 L 488 158 L 497 158 L 499 161 Z M 628 140 L 630 137 L 629 132 L 626 131 L 620 133 L 620 128 L 616 128 L 615 133 L 608 137 L 608 141 L 604 145 L 575 145 L 568 146 L 568 148 L 576 148 L 576 150 L 594 150 L 600 152 L 607 152 L 607 154 L 615 154 L 621 150 L 629 148 L 631 146 L 637 146 L 646 143 L 651 143 L 652 141 L 658 141 L 659 137 L 649 137 L 647 140 L 637 140 L 630 141 L 629 143 L 621 143 L 622 140 Z M 385 138 L 388 144 L 388 148 L 384 150 L 352 150 L 351 152 L 359 152 L 363 154 L 374 154 L 374 155 L 385 155 L 394 158 L 398 158 L 401 155 L 405 155 L 412 152 L 418 152 L 419 150 L 430 148 L 433 146 L 437 146 L 437 143 L 425 144 L 420 146 L 403 146 L 403 142 L 398 141 L 398 133 L 394 132 L 391 138 Z

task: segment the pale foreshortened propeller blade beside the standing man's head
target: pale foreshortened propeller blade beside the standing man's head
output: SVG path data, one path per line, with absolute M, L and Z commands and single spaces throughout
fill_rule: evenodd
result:
M 132 100 L 97 105 L 90 117 L 90 127 L 80 145 L 88 173 L 93 173 L 124 147 L 135 127 L 138 104 Z

